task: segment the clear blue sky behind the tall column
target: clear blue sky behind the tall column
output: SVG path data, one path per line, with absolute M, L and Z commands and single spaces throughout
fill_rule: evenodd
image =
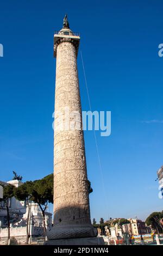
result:
M 93 132 L 85 132 L 91 217 L 145 219 L 162 210 L 154 181 L 163 164 L 162 11 L 159 0 L 1 2 L 0 180 L 12 170 L 24 181 L 53 172 L 53 34 L 67 13 L 81 35 L 92 110 L 112 118 L 111 136 L 96 132 L 104 189 Z M 80 54 L 78 69 L 87 111 Z

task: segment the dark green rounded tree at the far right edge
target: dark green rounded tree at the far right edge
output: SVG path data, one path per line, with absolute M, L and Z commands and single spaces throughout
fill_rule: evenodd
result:
M 155 211 L 150 214 L 146 219 L 146 224 L 151 225 L 152 228 L 156 229 L 157 232 L 163 231 L 162 224 L 160 222 L 161 218 L 163 218 L 163 211 Z

